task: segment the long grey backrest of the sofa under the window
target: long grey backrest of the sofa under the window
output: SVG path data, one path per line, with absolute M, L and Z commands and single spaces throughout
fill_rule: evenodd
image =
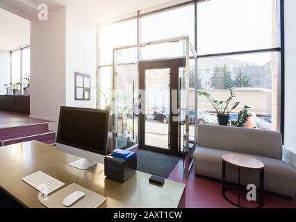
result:
M 279 160 L 283 153 L 281 133 L 229 126 L 200 124 L 197 145 Z

